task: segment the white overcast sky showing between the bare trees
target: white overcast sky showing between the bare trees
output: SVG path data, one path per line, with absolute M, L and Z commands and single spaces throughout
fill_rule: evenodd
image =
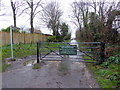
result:
M 16 0 L 13 0 L 13 1 L 16 1 Z M 22 1 L 22 0 L 19 0 L 19 1 Z M 35 1 L 37 1 L 37 0 L 35 0 Z M 70 4 L 72 2 L 74 2 L 75 0 L 43 0 L 43 1 L 46 1 L 46 2 L 58 1 L 60 3 L 62 11 L 64 12 L 63 16 L 62 16 L 62 21 L 69 24 L 70 30 L 72 31 L 72 33 L 75 33 L 75 27 L 70 22 L 70 18 L 69 18 L 70 13 L 72 13 Z M 76 1 L 80 1 L 80 0 L 76 0 Z M 99 0 L 96 0 L 96 1 L 99 1 Z M 12 17 L 12 9 L 10 7 L 10 0 L 2 0 L 1 4 L 2 5 L 0 6 L 0 15 L 2 13 L 6 13 L 6 15 L 0 16 L 0 29 L 6 28 L 10 25 L 13 25 L 13 17 Z M 4 8 L 3 5 L 6 7 Z M 34 27 L 38 27 L 39 26 L 38 23 L 40 23 L 39 19 L 35 19 L 34 20 Z M 17 26 L 30 28 L 29 16 L 23 14 L 22 16 L 18 17 L 17 18 Z M 49 30 L 47 30 L 44 27 L 40 27 L 40 29 L 42 30 L 43 33 L 51 33 Z M 75 37 L 75 34 L 72 34 L 72 35 L 73 35 L 72 37 Z

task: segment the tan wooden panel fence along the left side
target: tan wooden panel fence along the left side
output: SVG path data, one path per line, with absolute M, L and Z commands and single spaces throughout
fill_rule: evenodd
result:
M 0 32 L 1 36 L 1 45 L 10 44 L 10 33 L 9 32 Z M 45 41 L 48 35 L 44 34 L 30 34 L 30 33 L 15 33 L 13 32 L 13 44 L 17 43 L 36 43 L 38 41 Z

